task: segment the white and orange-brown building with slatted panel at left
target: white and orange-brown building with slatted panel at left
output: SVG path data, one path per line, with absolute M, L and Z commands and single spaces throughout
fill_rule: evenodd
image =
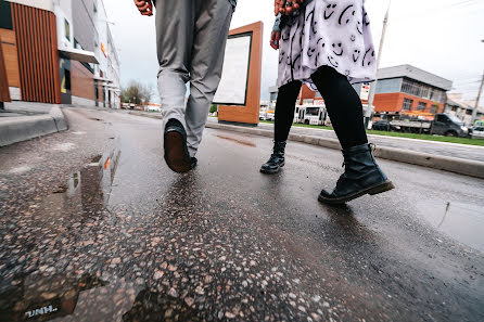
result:
M 102 0 L 0 0 L 12 100 L 119 108 L 119 60 Z

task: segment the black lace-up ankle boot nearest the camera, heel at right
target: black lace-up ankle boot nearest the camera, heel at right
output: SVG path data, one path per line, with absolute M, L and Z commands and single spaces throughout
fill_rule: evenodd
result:
M 332 193 L 321 191 L 318 199 L 326 204 L 344 204 L 365 194 L 379 194 L 394 189 L 392 181 L 380 169 L 370 144 L 343 150 L 344 173 Z

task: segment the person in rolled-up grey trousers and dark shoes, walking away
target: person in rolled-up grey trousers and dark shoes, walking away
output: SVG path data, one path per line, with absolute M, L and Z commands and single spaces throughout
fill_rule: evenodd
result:
M 153 15 L 152 3 L 165 160 L 171 170 L 187 172 L 196 165 L 237 0 L 135 0 L 142 15 Z

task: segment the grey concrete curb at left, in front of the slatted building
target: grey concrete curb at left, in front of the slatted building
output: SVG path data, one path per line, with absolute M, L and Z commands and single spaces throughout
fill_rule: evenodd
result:
M 0 121 L 0 146 L 67 130 L 68 125 L 56 105 L 49 114 L 12 117 Z

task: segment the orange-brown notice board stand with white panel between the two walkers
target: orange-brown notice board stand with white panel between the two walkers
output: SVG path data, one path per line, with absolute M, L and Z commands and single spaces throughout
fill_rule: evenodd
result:
M 219 121 L 258 124 L 263 28 L 257 22 L 229 33 L 224 72 L 214 98 Z

